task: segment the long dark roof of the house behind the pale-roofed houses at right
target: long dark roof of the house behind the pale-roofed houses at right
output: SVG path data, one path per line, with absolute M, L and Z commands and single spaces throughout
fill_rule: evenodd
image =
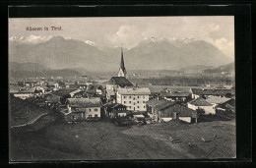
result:
M 202 88 L 191 88 L 193 94 L 197 95 L 225 95 L 231 93 L 230 89 L 202 89 Z

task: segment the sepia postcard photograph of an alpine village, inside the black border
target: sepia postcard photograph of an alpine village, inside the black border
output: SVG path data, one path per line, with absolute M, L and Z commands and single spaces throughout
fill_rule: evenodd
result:
M 236 158 L 233 16 L 9 18 L 8 58 L 10 162 Z

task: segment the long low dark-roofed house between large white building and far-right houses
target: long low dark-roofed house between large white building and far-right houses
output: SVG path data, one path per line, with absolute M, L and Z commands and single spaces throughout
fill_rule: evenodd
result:
M 191 94 L 189 92 L 162 92 L 160 96 L 169 101 L 188 101 Z

